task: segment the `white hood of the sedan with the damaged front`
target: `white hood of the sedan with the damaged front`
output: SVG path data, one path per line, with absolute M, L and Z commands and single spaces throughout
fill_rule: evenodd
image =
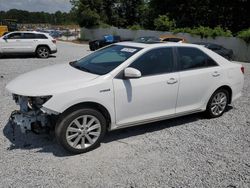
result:
M 67 64 L 34 70 L 12 80 L 6 89 L 23 96 L 46 96 L 84 87 L 99 75 L 78 70 Z

